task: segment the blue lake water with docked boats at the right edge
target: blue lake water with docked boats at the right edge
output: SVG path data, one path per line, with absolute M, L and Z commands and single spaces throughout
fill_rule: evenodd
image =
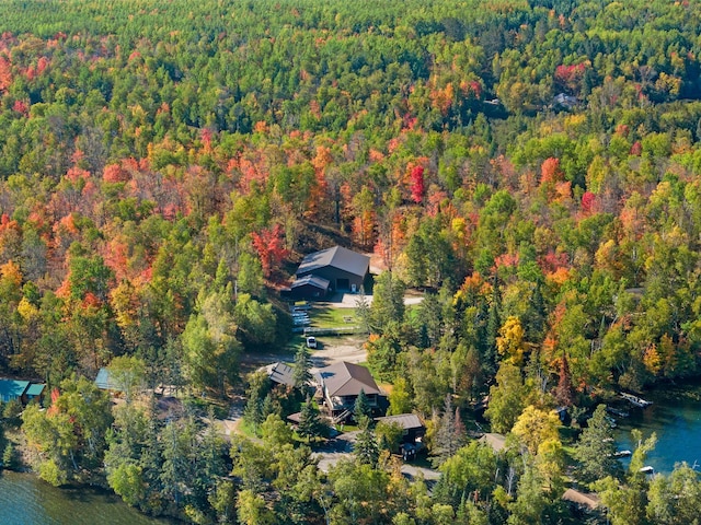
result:
M 676 463 L 687 462 L 693 466 L 697 462 L 697 469 L 701 470 L 701 386 L 660 388 L 643 397 L 653 405 L 644 409 L 621 405 L 630 416 L 614 417 L 618 448 L 635 448 L 631 429 L 640 429 L 643 439 L 655 432 L 657 445 L 648 454 L 646 465 L 656 472 L 669 474 Z

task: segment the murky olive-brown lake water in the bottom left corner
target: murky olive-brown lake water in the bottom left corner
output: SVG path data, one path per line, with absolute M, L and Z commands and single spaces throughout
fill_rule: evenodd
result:
M 2 525 L 165 525 L 106 491 L 56 489 L 30 474 L 0 474 Z

